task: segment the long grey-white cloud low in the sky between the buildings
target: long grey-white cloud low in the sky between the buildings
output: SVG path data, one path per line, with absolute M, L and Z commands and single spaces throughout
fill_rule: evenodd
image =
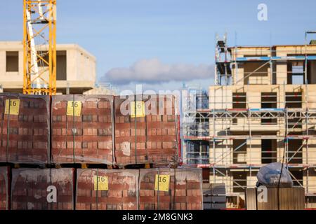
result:
M 207 64 L 164 64 L 157 58 L 140 59 L 129 68 L 114 68 L 101 79 L 117 85 L 129 83 L 167 83 L 213 78 L 213 66 Z

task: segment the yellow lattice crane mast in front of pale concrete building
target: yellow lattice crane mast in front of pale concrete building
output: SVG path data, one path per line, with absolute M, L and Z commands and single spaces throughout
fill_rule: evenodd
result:
M 23 0 L 23 93 L 56 94 L 56 0 Z

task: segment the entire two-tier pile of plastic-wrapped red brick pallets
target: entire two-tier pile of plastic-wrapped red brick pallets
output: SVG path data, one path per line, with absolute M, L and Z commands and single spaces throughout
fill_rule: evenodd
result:
M 49 97 L 0 94 L 0 162 L 86 163 L 91 169 L 77 169 L 77 175 L 74 168 L 12 169 L 9 179 L 8 168 L 0 168 L 0 209 L 202 209 L 201 169 L 100 169 L 178 165 L 175 96 L 74 94 L 51 100 L 50 111 Z

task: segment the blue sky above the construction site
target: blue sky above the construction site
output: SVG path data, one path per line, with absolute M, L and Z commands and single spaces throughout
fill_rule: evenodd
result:
M 259 3 L 268 6 L 268 21 L 258 21 Z M 315 0 L 57 0 L 57 4 L 58 43 L 78 43 L 96 55 L 98 78 L 111 77 L 119 88 L 133 87 L 133 80 L 142 83 L 142 76 L 133 77 L 139 68 L 145 76 L 146 66 L 154 77 L 152 81 L 151 76 L 144 77 L 148 88 L 180 87 L 181 76 L 189 85 L 213 84 L 216 33 L 227 31 L 229 45 L 276 45 L 301 44 L 305 30 L 316 30 Z M 22 0 L 6 1 L 0 8 L 0 41 L 20 40 Z M 171 82 L 157 77 L 166 69 L 173 71 Z M 112 71 L 116 73 L 111 76 Z M 119 72 L 125 72 L 123 81 L 117 78 Z

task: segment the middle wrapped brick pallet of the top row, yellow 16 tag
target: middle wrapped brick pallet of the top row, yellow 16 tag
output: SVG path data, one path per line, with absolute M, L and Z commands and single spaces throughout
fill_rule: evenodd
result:
M 67 106 L 78 106 L 67 116 Z M 69 113 L 68 113 L 69 114 Z M 113 97 L 60 95 L 52 99 L 52 162 L 113 164 Z

